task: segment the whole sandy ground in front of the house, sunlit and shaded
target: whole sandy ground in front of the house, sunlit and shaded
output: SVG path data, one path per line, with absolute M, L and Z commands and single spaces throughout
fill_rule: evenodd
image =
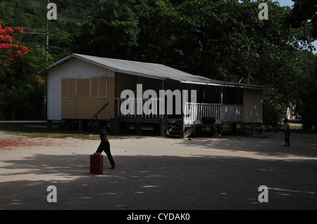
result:
M 317 209 L 316 137 L 292 133 L 291 147 L 282 133 L 110 140 L 116 169 L 104 157 L 95 175 L 99 140 L 0 133 L 0 209 Z

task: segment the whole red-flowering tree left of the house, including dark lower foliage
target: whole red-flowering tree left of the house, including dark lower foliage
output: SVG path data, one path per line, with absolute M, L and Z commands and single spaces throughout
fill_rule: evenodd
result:
M 0 119 L 37 119 L 42 114 L 44 50 L 22 44 L 22 34 L 20 27 L 0 22 Z

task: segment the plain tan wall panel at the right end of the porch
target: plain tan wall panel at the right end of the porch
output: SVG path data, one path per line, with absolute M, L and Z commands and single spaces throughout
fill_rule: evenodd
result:
M 263 91 L 258 89 L 243 89 L 244 122 L 263 122 Z

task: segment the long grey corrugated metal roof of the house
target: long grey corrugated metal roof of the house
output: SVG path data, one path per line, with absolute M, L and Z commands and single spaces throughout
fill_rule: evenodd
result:
M 204 85 L 213 85 L 213 86 L 232 86 L 240 88 L 261 88 L 268 89 L 263 86 L 254 86 L 249 84 L 239 84 L 230 81 L 220 81 L 215 79 L 208 79 L 206 77 L 201 77 L 198 75 L 189 74 L 187 72 L 182 72 L 176 70 L 172 67 L 166 65 L 149 63 L 149 62 L 137 62 L 131 60 L 119 60 L 113 58 L 101 58 L 91 55 L 82 55 L 73 53 L 68 55 L 66 58 L 58 60 L 54 65 L 50 67 L 61 65 L 63 62 L 67 62 L 73 58 L 78 58 L 80 60 L 85 60 L 86 62 L 105 67 L 108 70 L 114 72 L 122 72 L 125 74 L 133 74 L 142 77 L 150 77 L 154 79 L 173 79 L 175 81 L 180 81 L 181 83 L 186 84 L 204 84 Z

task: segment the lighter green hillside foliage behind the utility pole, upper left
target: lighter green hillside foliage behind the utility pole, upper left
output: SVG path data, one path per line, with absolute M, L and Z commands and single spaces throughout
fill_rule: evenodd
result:
M 51 62 L 71 53 L 72 36 L 80 31 L 86 13 L 92 11 L 99 0 L 56 0 L 57 20 L 49 22 L 49 53 Z M 0 0 L 0 20 L 8 27 L 23 27 L 20 37 L 27 46 L 45 49 L 47 1 Z

